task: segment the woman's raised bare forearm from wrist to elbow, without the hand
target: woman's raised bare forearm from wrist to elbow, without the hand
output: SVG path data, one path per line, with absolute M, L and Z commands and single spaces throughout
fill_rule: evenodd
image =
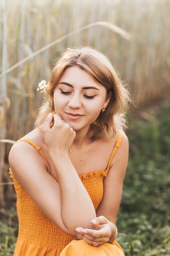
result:
M 50 154 L 61 191 L 61 215 L 68 233 L 75 228 L 94 228 L 90 220 L 96 217 L 92 200 L 81 182 L 68 155 Z M 57 160 L 56 160 L 57 159 Z M 74 233 L 74 234 L 72 234 Z

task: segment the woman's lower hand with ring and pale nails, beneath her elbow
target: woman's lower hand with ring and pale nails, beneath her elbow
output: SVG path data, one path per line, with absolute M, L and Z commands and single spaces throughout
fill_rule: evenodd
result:
M 84 239 L 93 246 L 107 243 L 112 233 L 112 223 L 104 216 L 94 218 L 91 223 L 96 226 L 96 229 L 76 228 L 76 231 L 82 237 L 78 236 L 78 239 Z

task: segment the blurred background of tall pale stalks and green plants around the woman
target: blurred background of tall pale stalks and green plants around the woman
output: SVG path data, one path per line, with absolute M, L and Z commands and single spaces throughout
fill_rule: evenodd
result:
M 0 255 L 18 232 L 12 143 L 33 128 L 56 59 L 92 46 L 129 85 L 129 164 L 117 219 L 126 255 L 170 255 L 170 0 L 0 0 Z

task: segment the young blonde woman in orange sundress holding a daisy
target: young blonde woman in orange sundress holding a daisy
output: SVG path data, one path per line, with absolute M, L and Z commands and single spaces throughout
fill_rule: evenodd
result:
M 109 60 L 67 49 L 35 129 L 13 145 L 19 232 L 14 255 L 124 255 L 117 237 L 128 163 L 129 93 Z

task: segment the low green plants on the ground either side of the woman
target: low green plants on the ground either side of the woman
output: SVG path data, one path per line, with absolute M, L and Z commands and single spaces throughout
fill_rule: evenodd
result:
M 129 164 L 120 211 L 119 235 L 126 256 L 170 255 L 170 103 L 130 117 Z M 141 118 L 142 116 L 142 118 Z M 0 255 L 14 250 L 16 209 L 1 209 Z

